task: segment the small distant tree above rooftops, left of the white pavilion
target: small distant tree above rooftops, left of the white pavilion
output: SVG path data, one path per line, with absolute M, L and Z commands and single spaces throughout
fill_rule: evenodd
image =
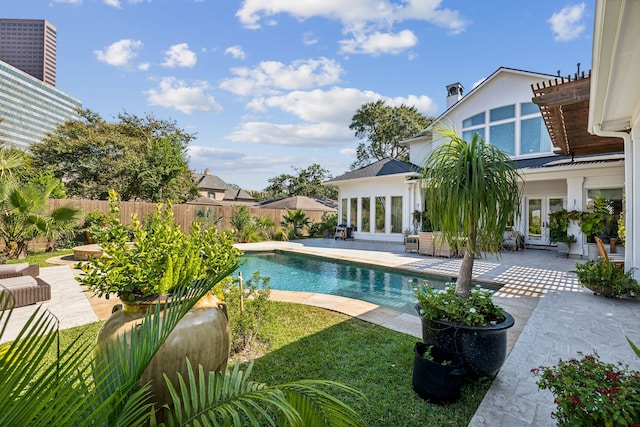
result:
M 327 169 L 317 163 L 309 165 L 306 169 L 292 168 L 295 174 L 280 174 L 269 178 L 271 183 L 264 191 L 271 199 L 307 196 L 307 197 L 327 197 L 336 199 L 337 190 L 333 187 L 322 185 L 324 181 L 332 178 Z

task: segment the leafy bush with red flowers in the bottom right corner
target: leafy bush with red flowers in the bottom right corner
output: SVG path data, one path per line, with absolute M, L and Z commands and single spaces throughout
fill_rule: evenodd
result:
M 638 425 L 640 372 L 603 362 L 597 352 L 578 354 L 580 358 L 560 359 L 552 367 L 531 370 L 539 377 L 538 387 L 554 395 L 557 409 L 552 418 L 567 426 Z

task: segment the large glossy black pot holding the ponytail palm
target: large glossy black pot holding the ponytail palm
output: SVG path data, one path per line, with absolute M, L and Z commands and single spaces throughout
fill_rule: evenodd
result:
M 507 357 L 507 329 L 514 324 L 509 313 L 503 312 L 505 320 L 496 325 L 466 326 L 425 319 L 420 313 L 419 303 L 416 311 L 422 320 L 422 339 L 426 344 L 459 352 L 465 367 L 477 375 L 494 376 L 498 373 Z

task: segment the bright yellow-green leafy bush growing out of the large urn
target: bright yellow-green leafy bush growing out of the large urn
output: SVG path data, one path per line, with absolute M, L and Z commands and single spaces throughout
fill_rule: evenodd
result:
M 117 198 L 111 200 L 111 212 L 117 212 Z M 158 204 L 144 225 L 132 216 L 128 228 L 112 216 L 100 245 L 106 256 L 92 258 L 78 280 L 98 296 L 134 300 L 171 293 L 180 283 L 192 283 L 215 276 L 237 263 L 239 251 L 224 233 L 210 228 L 201 230 L 194 223 L 184 233 L 173 217 L 171 205 Z

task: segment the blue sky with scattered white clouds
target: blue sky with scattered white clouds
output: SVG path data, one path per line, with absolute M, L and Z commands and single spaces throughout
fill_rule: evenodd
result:
M 439 116 L 500 67 L 591 68 L 594 1 L 3 0 L 57 28 L 57 83 L 107 121 L 175 121 L 189 165 L 262 190 L 319 164 L 349 170 L 357 109 Z

